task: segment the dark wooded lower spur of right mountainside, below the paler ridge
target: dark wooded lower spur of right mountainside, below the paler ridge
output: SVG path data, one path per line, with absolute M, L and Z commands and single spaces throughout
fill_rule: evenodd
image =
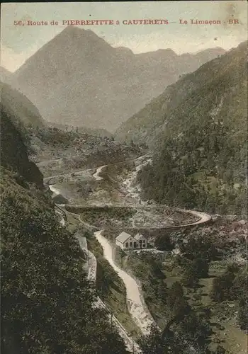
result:
M 247 193 L 242 184 L 245 156 L 241 149 L 245 143 L 237 139 L 232 144 L 227 130 L 230 126 L 206 118 L 200 132 L 197 123 L 180 138 L 167 137 L 153 164 L 138 176 L 143 198 L 188 209 L 244 213 Z M 232 164 L 230 156 L 235 156 Z M 239 188 L 235 188 L 237 182 Z

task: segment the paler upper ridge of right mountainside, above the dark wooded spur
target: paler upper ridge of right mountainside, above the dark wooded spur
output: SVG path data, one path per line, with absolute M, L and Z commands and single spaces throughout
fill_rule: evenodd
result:
M 246 122 L 247 42 L 186 74 L 115 132 L 120 140 L 154 147 L 164 132 L 176 136 L 208 117 L 225 120 L 235 130 Z

